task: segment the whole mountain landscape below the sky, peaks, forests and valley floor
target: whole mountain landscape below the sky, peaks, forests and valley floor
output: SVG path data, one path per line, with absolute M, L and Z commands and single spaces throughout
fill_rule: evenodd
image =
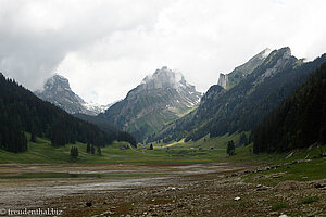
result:
M 162 67 L 100 114 L 1 76 L 0 214 L 324 216 L 325 60 L 264 50 L 203 95 Z

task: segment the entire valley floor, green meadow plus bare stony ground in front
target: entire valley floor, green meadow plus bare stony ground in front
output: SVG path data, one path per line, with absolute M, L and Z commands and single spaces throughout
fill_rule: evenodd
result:
M 230 139 L 239 135 L 154 143 L 154 150 L 122 150 L 127 143 L 116 142 L 102 156 L 78 143 L 74 159 L 72 145 L 52 148 L 38 138 L 25 153 L 0 151 L 0 207 L 76 217 L 326 216 L 321 149 L 254 155 L 248 145 L 228 157 Z

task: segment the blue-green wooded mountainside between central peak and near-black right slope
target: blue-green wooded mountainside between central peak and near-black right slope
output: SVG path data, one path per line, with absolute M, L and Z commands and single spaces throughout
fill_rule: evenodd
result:
M 275 50 L 231 89 L 212 86 L 196 111 L 172 123 L 151 140 L 196 141 L 208 133 L 218 137 L 250 131 L 325 61 L 324 54 L 303 63 L 291 55 L 289 48 Z

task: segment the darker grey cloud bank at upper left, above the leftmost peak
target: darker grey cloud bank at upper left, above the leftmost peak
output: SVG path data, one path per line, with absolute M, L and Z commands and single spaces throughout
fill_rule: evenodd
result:
M 160 4 L 130 2 L 1 0 L 0 71 L 32 90 L 40 88 L 70 52 L 116 30 L 154 22 L 146 12 Z

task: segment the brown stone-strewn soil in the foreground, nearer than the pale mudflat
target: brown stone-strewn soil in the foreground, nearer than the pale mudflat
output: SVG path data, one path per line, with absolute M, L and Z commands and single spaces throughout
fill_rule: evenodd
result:
M 64 216 L 326 216 L 326 180 L 274 187 L 246 181 L 258 170 L 263 169 L 183 175 L 165 186 L 70 195 L 49 205 L 63 208 Z

